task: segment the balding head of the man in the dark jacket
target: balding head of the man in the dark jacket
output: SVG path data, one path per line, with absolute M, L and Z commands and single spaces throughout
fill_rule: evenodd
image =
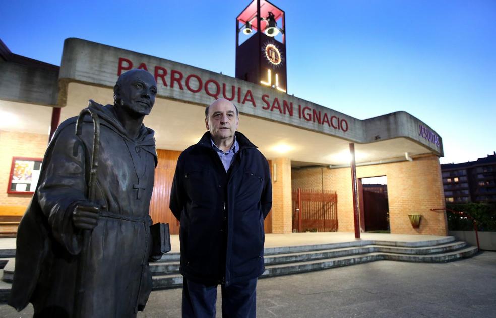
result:
M 234 136 L 239 119 L 234 105 L 225 99 L 219 99 L 210 105 L 205 125 L 214 139 L 229 139 Z

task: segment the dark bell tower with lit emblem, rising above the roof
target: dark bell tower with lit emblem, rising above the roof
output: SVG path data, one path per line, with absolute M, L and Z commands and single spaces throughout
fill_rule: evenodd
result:
M 287 91 L 285 14 L 267 0 L 236 18 L 236 78 Z

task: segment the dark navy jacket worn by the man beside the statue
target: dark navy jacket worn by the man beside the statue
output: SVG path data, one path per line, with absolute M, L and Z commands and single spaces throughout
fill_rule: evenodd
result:
M 236 132 L 239 151 L 226 172 L 210 132 L 179 156 L 170 209 L 180 221 L 185 278 L 230 285 L 264 272 L 264 219 L 272 207 L 269 164 Z

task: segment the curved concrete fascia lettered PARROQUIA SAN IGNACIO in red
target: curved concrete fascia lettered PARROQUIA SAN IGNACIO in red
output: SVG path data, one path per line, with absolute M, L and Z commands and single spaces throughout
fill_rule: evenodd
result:
M 437 155 L 442 139 L 428 125 L 406 112 L 359 120 L 335 110 L 261 85 L 166 59 L 77 38 L 66 39 L 59 80 L 113 87 L 120 73 L 142 68 L 155 75 L 158 96 L 207 105 L 219 97 L 233 100 L 239 111 L 267 120 L 321 132 L 356 143 L 408 138 Z M 60 106 L 66 105 L 63 94 Z

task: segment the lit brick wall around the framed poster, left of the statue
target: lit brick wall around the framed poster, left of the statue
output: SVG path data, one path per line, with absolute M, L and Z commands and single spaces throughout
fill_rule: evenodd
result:
M 48 134 L 31 134 L 0 130 L 0 207 L 28 206 L 32 195 L 8 194 L 12 157 L 43 158 Z

